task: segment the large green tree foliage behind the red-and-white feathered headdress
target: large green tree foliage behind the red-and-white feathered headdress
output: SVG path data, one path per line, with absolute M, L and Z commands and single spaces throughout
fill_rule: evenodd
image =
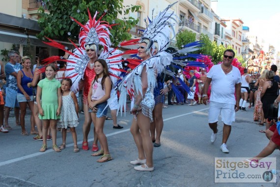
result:
M 44 36 L 68 41 L 78 40 L 80 26 L 71 20 L 70 16 L 75 18 L 82 24 L 88 21 L 87 8 L 93 17 L 95 12 L 100 12 L 97 19 L 102 15 L 104 10 L 107 14 L 102 18 L 112 24 L 115 22 L 116 26 L 112 27 L 111 41 L 113 45 L 117 45 L 120 41 L 131 38 L 128 30 L 138 23 L 138 20 L 128 17 L 129 12 L 137 12 L 140 6 L 131 5 L 123 6 L 123 0 L 44 0 L 49 11 L 45 12 L 43 7 L 39 8 L 40 19 L 38 20 L 39 26 L 42 31 L 37 35 L 38 38 L 43 39 Z M 117 15 L 121 14 L 123 20 L 117 19 Z

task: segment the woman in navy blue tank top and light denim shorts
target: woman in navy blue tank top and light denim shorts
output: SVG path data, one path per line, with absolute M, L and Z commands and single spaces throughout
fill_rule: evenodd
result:
M 29 135 L 25 129 L 25 115 L 26 115 L 26 107 L 27 104 L 29 109 L 31 110 L 31 114 L 33 113 L 33 89 L 32 87 L 28 88 L 27 84 L 32 82 L 33 79 L 33 72 L 31 71 L 31 61 L 28 56 L 22 58 L 22 66 L 23 69 L 18 71 L 17 74 L 17 85 L 18 85 L 18 94 L 17 100 L 20 105 L 21 115 L 20 115 L 20 122 L 22 127 L 21 135 L 27 136 Z M 31 130 L 30 134 L 38 134 L 35 130 L 35 121 L 33 115 L 30 118 L 31 121 Z

